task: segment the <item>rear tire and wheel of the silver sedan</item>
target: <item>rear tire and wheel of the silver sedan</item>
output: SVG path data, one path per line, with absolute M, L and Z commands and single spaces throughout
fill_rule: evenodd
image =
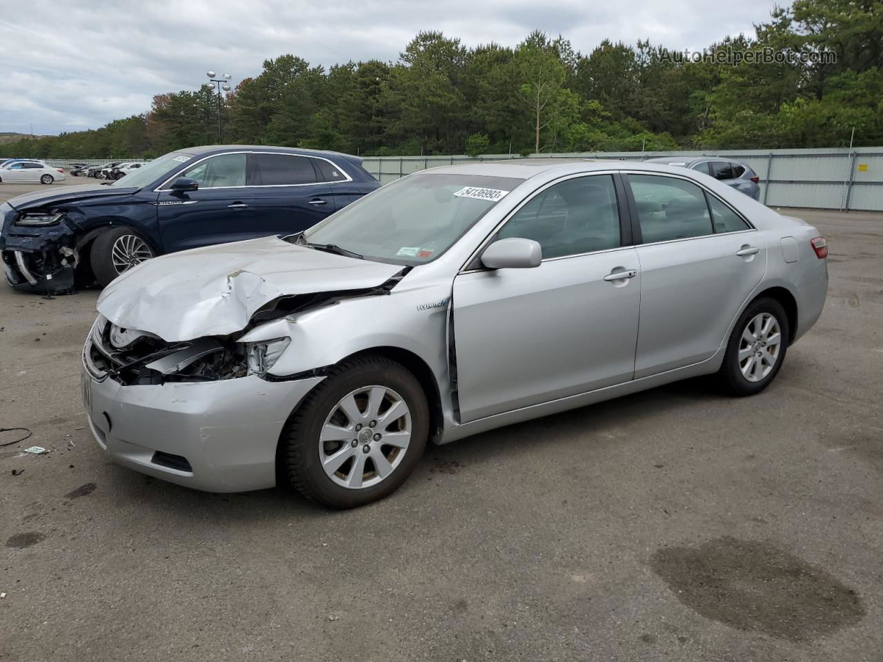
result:
M 788 315 L 778 301 L 752 301 L 729 336 L 718 372 L 721 387 L 739 397 L 756 395 L 768 387 L 785 361 L 789 333 Z

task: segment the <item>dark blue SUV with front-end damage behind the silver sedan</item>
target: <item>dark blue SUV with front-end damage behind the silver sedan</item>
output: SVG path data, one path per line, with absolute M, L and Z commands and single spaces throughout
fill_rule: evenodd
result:
M 381 184 L 349 154 L 191 147 L 116 183 L 28 193 L 0 205 L 6 282 L 39 292 L 102 286 L 155 255 L 294 234 Z

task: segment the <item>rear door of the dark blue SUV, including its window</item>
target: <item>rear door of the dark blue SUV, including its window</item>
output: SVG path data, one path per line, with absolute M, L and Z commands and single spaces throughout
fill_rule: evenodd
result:
M 314 159 L 303 154 L 251 154 L 258 186 L 253 192 L 255 236 L 300 232 L 335 211 L 331 185 Z

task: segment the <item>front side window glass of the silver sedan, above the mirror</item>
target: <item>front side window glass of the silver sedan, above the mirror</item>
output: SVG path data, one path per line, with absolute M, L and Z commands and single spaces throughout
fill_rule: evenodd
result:
M 521 207 L 497 238 L 540 243 L 543 259 L 603 251 L 620 244 L 613 177 L 576 177 L 549 186 Z

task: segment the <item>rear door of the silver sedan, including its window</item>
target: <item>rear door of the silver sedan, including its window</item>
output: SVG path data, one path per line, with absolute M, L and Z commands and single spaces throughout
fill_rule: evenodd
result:
M 766 273 L 757 230 L 691 180 L 632 173 L 641 270 L 635 379 L 712 357 Z

